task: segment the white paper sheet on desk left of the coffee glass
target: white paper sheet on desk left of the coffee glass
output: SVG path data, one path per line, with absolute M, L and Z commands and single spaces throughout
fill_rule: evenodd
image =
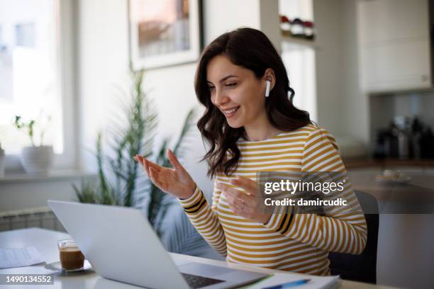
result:
M 30 266 L 44 261 L 43 256 L 33 246 L 18 249 L 0 248 L 0 268 Z

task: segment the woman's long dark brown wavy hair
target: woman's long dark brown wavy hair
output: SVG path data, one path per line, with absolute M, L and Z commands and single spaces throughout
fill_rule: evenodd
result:
M 208 143 L 202 161 L 208 162 L 208 176 L 223 172 L 232 174 L 240 159 L 237 140 L 245 135 L 245 129 L 231 128 L 223 113 L 211 103 L 211 94 L 206 80 L 206 67 L 217 55 L 226 55 L 230 62 L 250 69 L 261 79 L 267 68 L 274 70 L 275 84 L 265 101 L 265 110 L 270 123 L 279 130 L 295 130 L 311 122 L 309 114 L 292 104 L 294 90 L 289 87 L 288 74 L 272 42 L 260 30 L 238 28 L 220 35 L 202 52 L 196 69 L 194 89 L 199 101 L 205 106 L 204 115 L 197 123 L 202 138 Z M 230 157 L 226 158 L 226 152 Z

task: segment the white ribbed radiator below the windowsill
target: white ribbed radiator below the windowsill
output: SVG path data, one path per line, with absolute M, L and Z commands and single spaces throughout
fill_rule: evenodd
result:
M 66 232 L 65 228 L 48 207 L 11 210 L 0 213 L 0 232 L 29 227 Z

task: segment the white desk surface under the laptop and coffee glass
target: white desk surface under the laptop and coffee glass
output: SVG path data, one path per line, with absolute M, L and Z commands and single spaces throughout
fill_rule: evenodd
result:
M 54 261 L 59 261 L 59 253 L 57 250 L 57 240 L 69 238 L 68 234 L 62 232 L 50 231 L 47 229 L 39 229 L 39 228 L 29 228 L 29 229 L 18 229 L 7 232 L 0 232 L 0 247 L 1 248 L 19 248 L 26 246 L 35 246 L 40 254 L 45 256 L 47 263 L 51 263 Z M 184 259 L 196 261 L 199 263 L 207 263 L 215 266 L 228 266 L 228 263 L 225 261 L 216 261 L 211 259 L 204 259 L 199 257 L 180 255 L 180 254 L 172 254 L 174 259 Z M 21 268 L 9 268 L 9 269 L 0 269 L 0 274 L 9 273 L 9 274 L 18 274 L 18 273 L 35 273 L 35 271 L 43 270 L 43 264 L 34 265 L 29 267 L 21 267 Z M 251 266 L 241 266 L 241 265 L 230 265 L 233 268 L 243 268 L 250 271 L 258 271 L 263 273 L 282 273 L 282 271 L 275 271 L 269 269 L 256 268 Z M 37 273 L 37 272 L 36 272 Z M 300 274 L 301 275 L 301 274 Z M 111 288 L 119 288 L 119 289 L 137 289 L 140 287 L 136 287 L 133 285 L 127 285 L 124 283 L 118 283 L 106 280 L 98 276 L 94 271 L 87 271 L 86 273 L 76 273 L 70 274 L 69 276 L 62 276 L 60 273 L 55 273 L 54 285 L 10 285 L 6 287 L 5 285 L 0 285 L 0 288 L 48 288 L 48 289 L 80 289 L 80 288 L 98 288 L 98 289 L 111 289 Z M 306 275 L 301 275 L 305 276 Z M 379 286 L 379 285 L 371 285 L 367 283 L 359 283 L 359 282 L 351 282 L 343 280 L 340 288 L 357 288 L 357 289 L 386 289 L 388 287 Z

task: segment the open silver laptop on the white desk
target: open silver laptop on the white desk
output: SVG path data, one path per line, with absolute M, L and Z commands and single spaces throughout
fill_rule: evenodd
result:
M 101 277 L 145 288 L 234 288 L 267 274 L 211 266 L 167 253 L 140 210 L 48 200 Z

